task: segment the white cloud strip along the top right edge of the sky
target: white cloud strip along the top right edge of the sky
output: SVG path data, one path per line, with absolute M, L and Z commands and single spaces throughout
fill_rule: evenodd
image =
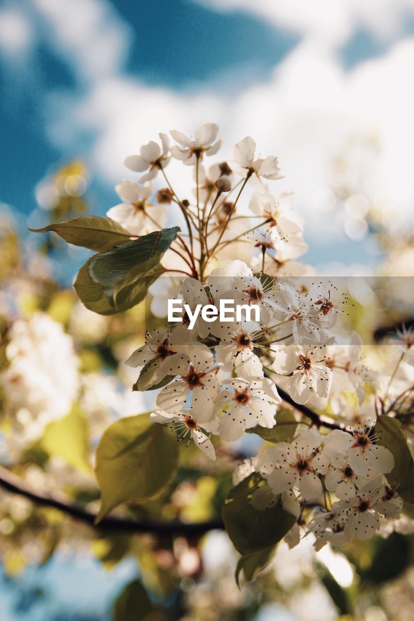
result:
M 363 27 L 382 38 L 398 34 L 413 0 L 195 0 L 216 11 L 240 9 L 281 28 L 333 45 L 344 43 Z

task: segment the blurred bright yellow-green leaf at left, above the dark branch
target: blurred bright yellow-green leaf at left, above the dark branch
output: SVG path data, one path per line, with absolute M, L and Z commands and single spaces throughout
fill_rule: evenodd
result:
M 89 426 L 78 406 L 73 406 L 62 419 L 49 423 L 39 445 L 48 455 L 62 457 L 73 468 L 91 474 Z

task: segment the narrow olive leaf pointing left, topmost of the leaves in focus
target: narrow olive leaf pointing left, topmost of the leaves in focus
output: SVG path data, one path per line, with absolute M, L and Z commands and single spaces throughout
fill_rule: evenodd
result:
M 101 215 L 86 215 L 70 218 L 49 224 L 43 229 L 29 229 L 33 233 L 47 233 L 53 231 L 60 235 L 65 242 L 75 246 L 83 246 L 95 252 L 106 252 L 109 248 L 125 243 L 131 235 L 120 224 Z

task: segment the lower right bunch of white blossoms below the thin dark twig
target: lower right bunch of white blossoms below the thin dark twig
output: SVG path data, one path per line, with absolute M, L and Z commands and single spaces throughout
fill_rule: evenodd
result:
M 325 436 L 310 429 L 292 443 L 270 446 L 254 461 L 266 483 L 252 502 L 264 509 L 282 495 L 283 507 L 297 517 L 286 536 L 291 547 L 299 542 L 301 529 L 315 535 L 316 550 L 327 542 L 348 543 L 354 535 L 368 539 L 385 519 L 400 517 L 403 504 L 384 477 L 393 469 L 393 455 L 374 442 L 370 428 Z M 323 505 L 319 502 L 323 490 L 329 506 L 326 497 Z M 331 502 L 331 494 L 338 500 Z M 308 515 L 306 501 L 315 503 Z

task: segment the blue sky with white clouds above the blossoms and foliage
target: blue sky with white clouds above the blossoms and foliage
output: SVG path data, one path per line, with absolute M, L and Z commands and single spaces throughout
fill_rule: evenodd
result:
M 116 202 L 113 186 L 126 175 L 122 161 L 131 150 L 160 130 L 191 133 L 212 120 L 228 142 L 250 133 L 259 148 L 279 156 L 286 179 L 277 189 L 295 191 L 295 208 L 306 217 L 306 261 L 375 263 L 372 245 L 344 233 L 343 214 L 320 205 L 332 158 L 349 135 L 365 131 L 385 145 L 375 162 L 381 192 L 402 201 L 405 212 L 412 204 L 409 168 L 389 166 L 408 149 L 408 136 L 395 144 L 390 138 L 399 105 L 395 79 L 383 90 L 389 76 L 400 75 L 402 84 L 412 66 L 414 2 L 381 0 L 376 11 L 372 0 L 335 10 L 317 0 L 313 12 L 297 4 L 3 2 L 0 202 L 23 229 L 21 214 L 37 207 L 36 184 L 81 158 L 90 170 L 90 211 L 104 214 Z M 398 111 L 399 128 L 410 99 Z M 393 173 L 389 179 L 384 168 Z M 30 215 L 30 223 L 46 220 Z

